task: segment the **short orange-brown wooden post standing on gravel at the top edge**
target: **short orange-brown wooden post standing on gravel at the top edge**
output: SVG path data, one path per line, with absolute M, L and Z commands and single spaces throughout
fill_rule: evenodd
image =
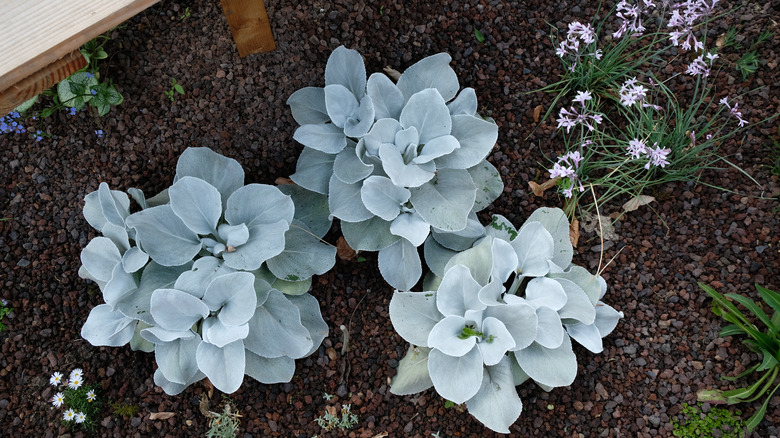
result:
M 240 57 L 276 48 L 263 0 L 220 0 L 220 3 Z

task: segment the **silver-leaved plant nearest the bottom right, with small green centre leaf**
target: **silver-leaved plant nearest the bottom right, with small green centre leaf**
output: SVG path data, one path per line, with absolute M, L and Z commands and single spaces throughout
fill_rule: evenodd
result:
M 560 209 L 535 211 L 517 230 L 501 216 L 470 249 L 454 255 L 426 292 L 396 291 L 393 327 L 411 345 L 390 391 L 431 386 L 490 429 L 509 433 L 522 411 L 515 386 L 545 390 L 577 374 L 571 340 L 598 353 L 623 316 L 601 302 L 606 282 L 571 263 Z

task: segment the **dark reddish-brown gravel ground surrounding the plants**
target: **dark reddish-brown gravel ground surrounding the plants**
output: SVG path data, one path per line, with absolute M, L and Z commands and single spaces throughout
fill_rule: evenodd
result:
M 461 86 L 476 89 L 481 114 L 499 125 L 489 160 L 506 189 L 486 212 L 520 225 L 535 208 L 562 205 L 553 193 L 540 198 L 528 190 L 528 181 L 545 178 L 539 173 L 540 163 L 546 164 L 543 152 L 562 152 L 562 143 L 554 122 L 533 121 L 533 109 L 547 108 L 553 96 L 526 93 L 561 73 L 546 23 L 564 28 L 573 20 L 588 21 L 596 2 L 266 1 L 278 47 L 244 59 L 217 3 L 166 0 L 113 32 L 102 73 L 125 101 L 109 115 L 61 112 L 32 122 L 33 129 L 51 134 L 37 143 L 25 135 L 0 136 L 0 209 L 13 218 L 0 222 L 0 298 L 15 309 L 0 334 L 0 436 L 68 436 L 61 409 L 50 404 L 54 388 L 48 379 L 54 371 L 67 374 L 76 367 L 84 369 L 87 383 L 100 385 L 106 403 L 140 408 L 123 418 L 106 407 L 95 435 L 205 433 L 208 422 L 198 400 L 207 391 L 204 384 L 168 396 L 153 384 L 153 355 L 129 347 L 97 348 L 81 339 L 90 309 L 102 303 L 95 285 L 77 275 L 81 249 L 95 235 L 81 214 L 84 195 L 101 181 L 117 190 L 156 193 L 170 185 L 176 160 L 188 146 L 237 159 L 247 182 L 273 184 L 288 176 L 302 147 L 292 140 L 296 124 L 285 101 L 301 87 L 323 85 L 327 58 L 339 45 L 359 50 L 369 72 L 385 66 L 403 70 L 425 56 L 449 52 Z M 180 19 L 185 7 L 191 16 Z M 780 112 L 778 10 L 776 0 L 748 2 L 710 32 L 710 44 L 729 25 L 745 44 L 762 30 L 774 32 L 758 47 L 760 68 L 748 80 L 732 65 L 744 50 L 724 55 L 714 78 L 717 98 L 741 95 L 740 108 L 751 122 Z M 485 44 L 476 40 L 475 28 Z M 186 90 L 175 102 L 163 94 L 172 78 Z M 102 138 L 94 134 L 97 129 L 105 132 Z M 707 171 L 698 185 L 663 186 L 651 193 L 657 202 L 617 222 L 619 237 L 604 245 L 605 262 L 615 260 L 603 275 L 610 288 L 606 301 L 625 319 L 605 339 L 603 353 L 575 347 L 580 370 L 571 387 L 550 393 L 530 383 L 519 387 L 524 409 L 511 427 L 513 435 L 671 436 L 671 421 L 682 418 L 682 404 L 695 403 L 699 389 L 736 387 L 721 377 L 736 375 L 758 356 L 739 339 L 718 338 L 723 322 L 697 282 L 754 298 L 754 283 L 780 290 L 773 212 L 780 187 L 771 173 L 778 137 L 774 119 L 722 145 L 723 155 L 759 185 L 734 169 Z M 575 262 L 595 271 L 599 249 L 598 236 L 583 232 Z M 363 263 L 338 261 L 315 279 L 312 293 L 330 336 L 319 351 L 297 361 L 292 382 L 263 385 L 246 378 L 230 395 L 242 415 L 239 436 L 499 436 L 468 413 L 446 408 L 433 390 L 414 397 L 390 394 L 389 381 L 406 345 L 390 324 L 392 290 L 379 275 L 376 254 L 364 256 Z M 350 337 L 346 353 L 342 326 Z M 324 393 L 335 397 L 326 401 Z M 221 400 L 215 393 L 212 410 Z M 326 433 L 315 423 L 326 406 L 347 403 L 360 419 L 352 430 Z M 743 419 L 759 406 L 739 406 Z M 754 436 L 780 434 L 778 407 L 775 396 Z M 154 412 L 175 415 L 152 420 Z

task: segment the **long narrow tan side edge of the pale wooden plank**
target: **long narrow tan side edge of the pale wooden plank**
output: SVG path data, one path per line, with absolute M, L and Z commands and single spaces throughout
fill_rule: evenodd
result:
M 121 24 L 137 15 L 144 9 L 152 6 L 160 0 L 137 0 L 131 5 L 115 11 L 102 20 L 89 26 L 81 32 L 75 34 L 67 41 L 62 41 L 52 47 L 50 50 L 36 56 L 30 62 L 25 63 L 0 76 L 0 92 L 4 93 L 14 84 L 24 80 L 28 76 L 46 68 L 58 59 L 63 58 L 69 53 L 78 50 L 81 46 L 112 27 Z

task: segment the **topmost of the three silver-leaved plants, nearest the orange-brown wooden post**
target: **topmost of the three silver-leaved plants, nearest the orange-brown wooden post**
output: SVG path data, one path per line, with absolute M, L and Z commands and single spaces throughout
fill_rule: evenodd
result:
M 450 56 L 409 67 L 393 83 L 339 47 L 325 67 L 325 87 L 296 91 L 287 103 L 304 145 L 301 187 L 328 195 L 355 250 L 379 251 L 384 279 L 410 290 L 422 275 L 417 247 L 430 235 L 471 236 L 475 212 L 503 191 L 485 158 L 498 127 L 477 114 L 473 89 L 460 88 Z M 472 241 L 473 241 L 473 237 Z M 446 238 L 442 245 L 451 250 Z

